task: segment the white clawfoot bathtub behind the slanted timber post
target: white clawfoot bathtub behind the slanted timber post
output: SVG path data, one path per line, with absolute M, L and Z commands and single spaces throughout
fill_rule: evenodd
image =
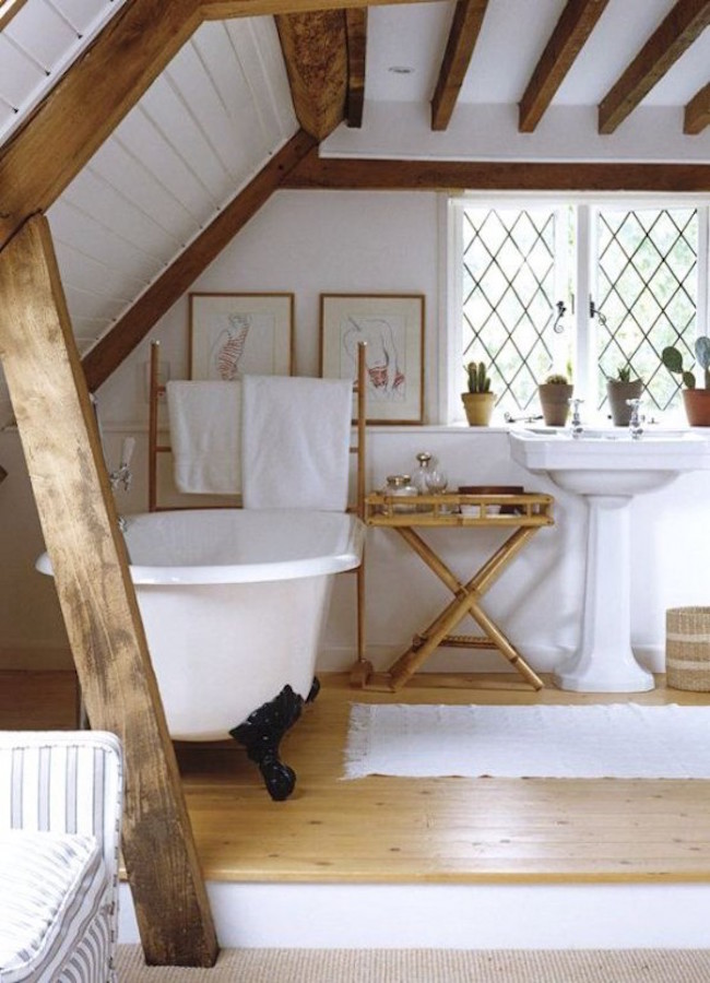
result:
M 149 512 L 126 523 L 170 736 L 214 741 L 232 733 L 258 760 L 239 725 L 264 707 L 259 730 L 279 730 L 284 716 L 293 723 L 299 715 L 313 684 L 333 575 L 358 566 L 363 523 L 303 509 Z M 51 573 L 46 554 L 37 568 Z M 291 696 L 284 703 L 284 688 L 297 708 Z M 259 747 L 264 739 L 260 734 Z

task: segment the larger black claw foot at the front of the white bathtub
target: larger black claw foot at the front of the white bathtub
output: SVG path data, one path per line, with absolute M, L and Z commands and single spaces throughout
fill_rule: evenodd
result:
M 284 686 L 277 697 L 259 707 L 244 723 L 229 731 L 234 739 L 244 745 L 249 760 L 259 766 L 267 791 L 274 802 L 288 798 L 296 785 L 296 772 L 281 761 L 279 745 L 300 716 L 303 706 L 304 698 L 291 686 Z

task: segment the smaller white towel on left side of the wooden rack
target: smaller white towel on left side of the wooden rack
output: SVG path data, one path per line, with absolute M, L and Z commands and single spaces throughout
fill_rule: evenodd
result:
M 175 484 L 179 492 L 241 490 L 241 383 L 166 384 Z

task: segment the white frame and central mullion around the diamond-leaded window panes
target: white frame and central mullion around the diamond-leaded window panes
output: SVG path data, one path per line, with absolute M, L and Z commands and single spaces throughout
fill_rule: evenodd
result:
M 698 281 L 696 298 L 696 336 L 710 334 L 710 194 L 641 194 L 625 192 L 578 193 L 560 196 L 554 192 L 496 193 L 465 192 L 447 194 L 441 221 L 446 223 L 446 260 L 443 289 L 447 331 L 442 332 L 440 365 L 441 419 L 447 424 L 465 423 L 461 403 L 463 391 L 463 333 L 461 308 L 463 303 L 463 211 L 466 206 L 492 209 L 534 209 L 541 205 L 573 208 L 575 254 L 570 258 L 573 304 L 567 303 L 566 319 L 572 332 L 571 347 L 575 363 L 575 394 L 585 402 L 588 418 L 599 422 L 596 410 L 596 330 L 595 319 L 589 317 L 589 298 L 595 296 L 596 212 L 600 209 L 635 211 L 641 209 L 695 208 L 698 210 Z M 588 298 L 579 303 L 580 297 Z M 672 411 L 667 417 L 675 416 Z M 494 426 L 507 426 L 500 413 L 494 415 Z

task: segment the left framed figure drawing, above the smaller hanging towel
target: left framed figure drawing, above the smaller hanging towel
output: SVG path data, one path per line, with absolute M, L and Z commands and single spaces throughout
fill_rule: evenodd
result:
M 190 378 L 293 371 L 293 294 L 190 294 Z

